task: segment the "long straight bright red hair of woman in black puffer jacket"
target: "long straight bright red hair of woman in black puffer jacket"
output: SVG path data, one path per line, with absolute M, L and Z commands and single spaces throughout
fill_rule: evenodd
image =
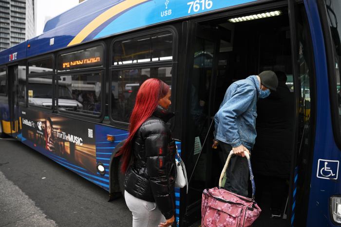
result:
M 128 168 L 132 155 L 132 139 L 135 133 L 140 126 L 152 116 L 159 100 L 165 97 L 169 90 L 170 88 L 165 82 L 156 78 L 147 79 L 139 88 L 136 95 L 135 106 L 129 120 L 129 136 L 122 148 L 115 154 L 115 156 L 122 155 L 122 172 L 126 172 Z

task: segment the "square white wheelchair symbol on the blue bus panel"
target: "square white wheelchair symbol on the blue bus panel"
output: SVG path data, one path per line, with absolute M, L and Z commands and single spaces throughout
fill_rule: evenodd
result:
M 339 175 L 339 161 L 319 159 L 317 177 L 322 179 L 336 180 Z

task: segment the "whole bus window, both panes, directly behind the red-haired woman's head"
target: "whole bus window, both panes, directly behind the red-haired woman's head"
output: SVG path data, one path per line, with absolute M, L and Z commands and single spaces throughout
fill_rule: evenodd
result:
M 129 122 L 140 85 L 149 78 L 159 78 L 171 87 L 173 34 L 152 33 L 114 42 L 111 78 L 111 116 Z M 141 63 L 162 62 L 157 67 L 140 67 Z M 125 68 L 124 65 L 127 65 Z M 133 67 L 132 67 L 133 65 Z M 117 66 L 120 69 L 115 69 Z

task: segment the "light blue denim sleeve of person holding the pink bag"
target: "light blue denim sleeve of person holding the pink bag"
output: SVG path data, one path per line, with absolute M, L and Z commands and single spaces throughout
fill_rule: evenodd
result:
M 216 133 L 225 137 L 233 148 L 242 144 L 236 119 L 251 105 L 255 92 L 255 90 L 239 87 L 217 113 L 219 125 Z

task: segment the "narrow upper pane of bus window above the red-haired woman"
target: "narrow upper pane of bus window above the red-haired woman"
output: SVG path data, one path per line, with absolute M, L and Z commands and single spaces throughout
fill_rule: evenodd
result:
M 169 31 L 117 41 L 113 65 L 171 60 L 173 35 Z

